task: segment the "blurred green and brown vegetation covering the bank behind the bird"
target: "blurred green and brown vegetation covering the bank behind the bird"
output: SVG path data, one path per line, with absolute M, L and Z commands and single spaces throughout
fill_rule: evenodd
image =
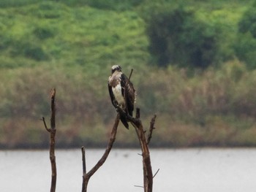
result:
M 144 126 L 158 115 L 151 145 L 256 145 L 253 1 L 105 2 L 0 2 L 0 147 L 48 145 L 53 87 L 57 145 L 105 146 L 113 64 L 135 69 Z M 116 145 L 138 146 L 134 132 Z

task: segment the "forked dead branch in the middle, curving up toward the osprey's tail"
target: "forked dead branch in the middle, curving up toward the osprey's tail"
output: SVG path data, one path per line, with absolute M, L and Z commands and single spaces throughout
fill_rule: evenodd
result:
M 108 147 L 105 150 L 105 153 L 102 155 L 102 158 L 99 159 L 99 161 L 97 162 L 97 164 L 91 168 L 91 170 L 89 172 L 86 173 L 86 158 L 85 158 L 85 153 L 83 153 L 83 147 L 82 147 L 82 159 L 83 159 L 83 186 L 82 186 L 82 192 L 86 192 L 87 191 L 87 186 L 89 183 L 89 180 L 91 178 L 91 176 L 97 172 L 97 170 L 99 169 L 100 166 L 102 166 L 102 164 L 105 163 L 106 159 L 108 158 L 108 155 L 110 153 L 110 150 L 113 147 L 113 143 L 116 140 L 116 131 L 118 128 L 118 123 L 119 123 L 119 114 L 116 115 L 116 120 L 115 123 L 113 125 L 112 131 L 111 131 L 111 136 L 108 142 Z

